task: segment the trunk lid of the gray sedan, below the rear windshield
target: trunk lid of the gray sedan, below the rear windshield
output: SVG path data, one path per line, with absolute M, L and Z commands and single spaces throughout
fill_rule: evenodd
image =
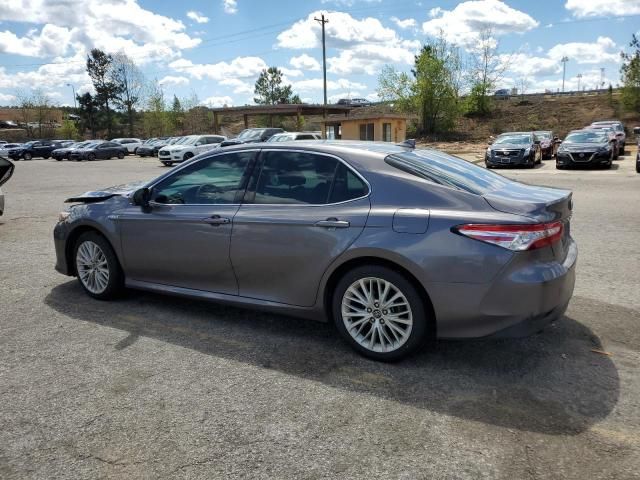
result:
M 567 256 L 571 242 L 572 192 L 559 188 L 538 187 L 509 182 L 499 190 L 483 195 L 492 208 L 531 218 L 540 223 L 562 222 L 562 239 L 553 244 L 553 254 L 558 261 Z

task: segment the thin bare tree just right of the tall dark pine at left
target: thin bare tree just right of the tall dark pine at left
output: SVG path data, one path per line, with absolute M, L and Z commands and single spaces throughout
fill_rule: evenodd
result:
M 126 53 L 116 53 L 112 57 L 111 81 L 118 86 L 114 96 L 116 107 L 127 113 L 129 136 L 133 136 L 136 107 L 142 103 L 145 79 L 142 71 Z

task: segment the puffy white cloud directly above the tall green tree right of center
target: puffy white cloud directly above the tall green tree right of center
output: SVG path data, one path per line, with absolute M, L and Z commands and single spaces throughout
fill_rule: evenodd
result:
M 522 33 L 539 23 L 528 14 L 511 8 L 500 0 L 470 0 L 459 3 L 453 10 L 432 9 L 434 17 L 422 24 L 422 31 L 439 36 L 455 44 L 472 45 L 479 32 L 489 28 L 494 34 Z

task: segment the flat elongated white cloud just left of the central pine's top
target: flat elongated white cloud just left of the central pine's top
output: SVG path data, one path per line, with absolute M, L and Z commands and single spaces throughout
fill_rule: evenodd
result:
M 195 64 L 191 60 L 180 58 L 171 62 L 169 67 L 198 80 L 210 78 L 218 81 L 229 78 L 255 77 L 263 69 L 268 68 L 265 61 L 260 57 L 237 57 L 230 63 L 219 62 L 213 64 Z

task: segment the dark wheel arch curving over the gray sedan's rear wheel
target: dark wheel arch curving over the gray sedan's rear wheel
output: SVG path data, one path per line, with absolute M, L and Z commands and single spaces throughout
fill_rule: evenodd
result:
M 371 266 L 371 265 L 386 267 L 391 270 L 394 270 L 395 272 L 405 277 L 413 285 L 413 287 L 420 294 L 420 298 L 422 299 L 422 303 L 424 305 L 425 311 L 427 312 L 431 320 L 428 322 L 427 335 L 429 338 L 435 338 L 437 335 L 437 321 L 436 321 L 435 309 L 433 308 L 431 297 L 429 296 L 429 293 L 424 288 L 422 283 L 420 283 L 417 277 L 413 273 L 411 273 L 410 270 L 403 267 L 399 263 L 394 262 L 393 260 L 376 257 L 376 256 L 367 255 L 367 256 L 350 258 L 345 262 L 341 263 L 330 273 L 324 285 L 323 297 L 322 297 L 322 307 L 329 321 L 333 322 L 334 320 L 333 308 L 331 308 L 331 303 L 332 303 L 333 293 L 340 279 L 347 272 L 349 272 L 354 268 L 361 267 L 361 266 Z

